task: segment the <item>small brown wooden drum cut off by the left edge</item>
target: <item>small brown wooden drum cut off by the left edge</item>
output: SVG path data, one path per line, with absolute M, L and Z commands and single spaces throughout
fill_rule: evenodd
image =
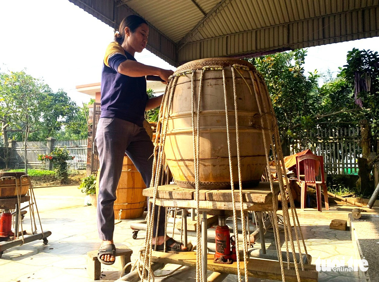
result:
M 22 175 L 25 172 L 0 172 L 0 199 L 17 197 L 17 190 L 19 196 L 25 196 L 30 185 L 28 176 L 21 178 Z

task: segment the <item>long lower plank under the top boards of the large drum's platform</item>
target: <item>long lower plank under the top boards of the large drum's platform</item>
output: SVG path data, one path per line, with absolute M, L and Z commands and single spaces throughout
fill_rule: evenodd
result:
M 269 197 L 271 198 L 271 197 Z M 150 199 L 152 202 L 152 199 Z M 195 200 L 179 200 L 179 199 L 157 199 L 156 205 L 162 207 L 176 207 L 176 208 L 196 208 L 197 203 Z M 199 201 L 199 208 L 202 211 L 211 210 L 233 210 L 232 202 L 221 202 L 221 201 Z M 236 202 L 236 209 L 240 210 L 240 202 Z M 276 206 L 277 209 L 277 206 Z M 273 211 L 273 202 L 270 200 L 266 203 L 243 203 L 243 210 L 254 210 L 254 211 Z M 211 213 L 213 214 L 213 213 Z

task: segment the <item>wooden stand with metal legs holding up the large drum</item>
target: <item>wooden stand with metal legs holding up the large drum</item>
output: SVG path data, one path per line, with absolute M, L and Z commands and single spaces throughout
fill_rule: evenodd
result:
M 194 189 L 180 188 L 177 185 L 163 185 L 158 186 L 158 194 L 156 204 L 162 207 L 177 207 L 183 208 L 196 208 L 196 191 Z M 260 182 L 259 185 L 253 189 L 243 190 L 243 210 L 256 211 L 260 226 L 262 226 L 262 211 L 273 211 L 273 199 L 277 199 L 279 194 L 279 183 L 274 183 L 273 193 L 269 182 Z M 143 191 L 143 195 L 152 198 L 153 188 L 147 188 Z M 273 197 L 274 196 L 274 197 Z M 240 210 L 240 191 L 235 190 L 236 210 Z M 203 213 L 202 217 L 202 273 L 204 282 L 207 281 L 207 269 L 226 274 L 237 274 L 237 263 L 231 265 L 213 263 L 213 254 L 207 254 L 207 214 L 218 215 L 219 210 L 233 210 L 232 193 L 230 190 L 200 190 L 199 191 L 199 207 Z M 150 199 L 151 201 L 151 199 Z M 277 205 L 277 201 L 275 201 Z M 276 206 L 277 208 L 277 206 Z M 186 217 L 183 218 L 186 225 Z M 186 231 L 186 230 L 183 230 Z M 260 241 L 263 254 L 265 254 L 265 241 L 263 228 L 260 229 Z M 187 234 L 183 232 L 183 239 L 187 241 Z M 200 250 L 198 250 L 200 251 Z M 152 253 L 153 262 L 160 263 L 174 263 L 179 265 L 196 266 L 196 253 L 195 252 L 182 252 L 182 253 Z M 285 266 L 286 281 L 297 281 L 294 264 L 290 263 L 291 268 L 288 270 L 287 263 Z M 315 282 L 318 279 L 318 273 L 313 265 L 306 265 L 305 271 L 300 269 L 301 281 Z M 245 269 L 243 260 L 240 262 L 241 274 Z M 249 258 L 247 271 L 250 277 L 282 280 L 280 272 L 279 261 L 262 260 L 260 258 Z M 224 277 L 224 276 L 223 276 Z

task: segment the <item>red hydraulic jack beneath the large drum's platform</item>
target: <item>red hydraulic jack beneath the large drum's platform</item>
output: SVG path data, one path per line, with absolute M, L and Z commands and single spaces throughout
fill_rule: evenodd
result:
M 218 226 L 216 227 L 216 253 L 214 263 L 232 264 L 236 260 L 235 242 L 230 238 L 229 226 L 226 225 L 225 211 L 220 211 L 218 216 Z M 234 236 L 232 236 L 234 237 Z M 230 240 L 234 248 L 230 248 Z M 233 251 L 232 251 L 233 250 Z M 234 252 L 234 253 L 233 253 Z M 233 258 L 235 258 L 233 260 Z

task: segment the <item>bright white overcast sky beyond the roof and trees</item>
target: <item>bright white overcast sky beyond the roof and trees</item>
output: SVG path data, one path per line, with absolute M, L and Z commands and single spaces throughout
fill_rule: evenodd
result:
M 53 91 L 64 89 L 78 105 L 89 96 L 76 85 L 100 82 L 106 46 L 113 28 L 68 0 L 0 1 L 0 71 L 21 71 L 41 78 Z M 353 47 L 379 51 L 379 37 L 308 48 L 306 72 L 327 69 L 337 75 Z M 135 58 L 144 64 L 175 70 L 146 49 Z

